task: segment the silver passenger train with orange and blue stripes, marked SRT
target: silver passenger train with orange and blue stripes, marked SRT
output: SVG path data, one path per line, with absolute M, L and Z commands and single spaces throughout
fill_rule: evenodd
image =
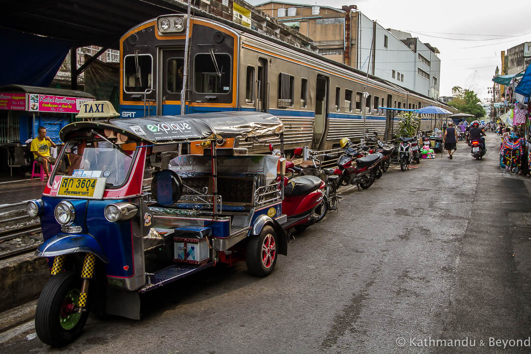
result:
M 159 16 L 120 39 L 122 117 L 181 113 L 186 16 Z M 328 150 L 337 147 L 342 137 L 359 140 L 364 128 L 386 137 L 396 133 L 396 111 L 382 107 L 434 105 L 455 111 L 309 50 L 227 20 L 218 21 L 190 18 L 186 114 L 268 112 L 285 124 L 285 150 L 301 145 Z M 432 130 L 441 123 L 442 116 L 425 115 L 420 130 Z M 240 139 L 230 144 L 253 152 L 267 150 L 264 142 Z

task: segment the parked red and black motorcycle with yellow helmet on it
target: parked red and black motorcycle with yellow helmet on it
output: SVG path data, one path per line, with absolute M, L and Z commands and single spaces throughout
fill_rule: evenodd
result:
M 338 168 L 334 170 L 334 174 L 340 176 L 338 186 L 350 184 L 358 188 L 369 188 L 374 183 L 376 175 L 382 173 L 380 162 L 383 155 L 376 152 L 365 156 L 364 153 L 355 149 L 347 138 L 341 139 L 339 144 L 344 149 L 344 154 L 339 157 Z

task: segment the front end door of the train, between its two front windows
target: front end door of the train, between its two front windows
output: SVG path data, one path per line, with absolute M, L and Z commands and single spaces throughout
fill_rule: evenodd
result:
M 157 80 L 157 114 L 181 114 L 183 89 L 184 48 L 161 49 L 159 52 L 159 80 Z

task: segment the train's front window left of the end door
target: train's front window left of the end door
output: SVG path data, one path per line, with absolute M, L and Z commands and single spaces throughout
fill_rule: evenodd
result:
M 149 54 L 126 55 L 124 58 L 124 90 L 127 93 L 144 93 L 153 88 L 151 80 L 153 60 Z

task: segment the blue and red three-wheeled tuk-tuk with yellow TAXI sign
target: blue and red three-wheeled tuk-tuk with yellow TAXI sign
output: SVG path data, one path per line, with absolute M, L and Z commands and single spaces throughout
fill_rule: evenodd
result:
M 219 263 L 245 261 L 264 277 L 287 254 L 285 160 L 217 148 L 235 137 L 281 139 L 278 117 L 116 116 L 109 102 L 84 103 L 78 117 L 93 120 L 60 133 L 66 175 L 54 169 L 27 205 L 44 236 L 36 255 L 52 273 L 35 317 L 50 346 L 79 336 L 91 309 L 139 319 L 142 293 Z M 202 141 L 202 154 L 187 153 L 191 141 Z

